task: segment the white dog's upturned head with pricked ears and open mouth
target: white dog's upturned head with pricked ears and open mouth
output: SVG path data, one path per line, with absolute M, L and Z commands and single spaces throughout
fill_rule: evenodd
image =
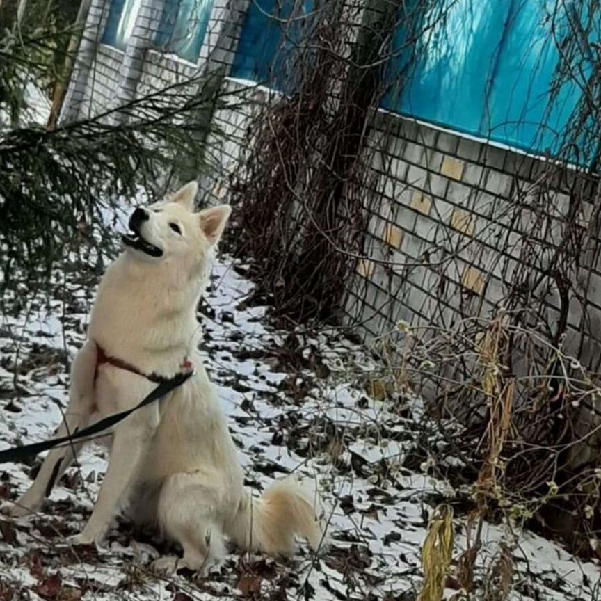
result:
M 228 205 L 194 212 L 196 182 L 147 207 L 138 207 L 129 218 L 130 232 L 123 243 L 138 261 L 177 264 L 187 271 L 201 269 L 211 247 L 221 238 L 230 216 Z

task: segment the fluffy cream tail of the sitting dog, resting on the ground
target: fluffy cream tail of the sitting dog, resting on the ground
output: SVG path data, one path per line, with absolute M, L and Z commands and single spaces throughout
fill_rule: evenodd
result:
M 244 491 L 226 534 L 234 543 L 269 555 L 294 552 L 294 536 L 306 538 L 313 549 L 323 538 L 316 497 L 291 477 L 270 486 L 260 499 Z

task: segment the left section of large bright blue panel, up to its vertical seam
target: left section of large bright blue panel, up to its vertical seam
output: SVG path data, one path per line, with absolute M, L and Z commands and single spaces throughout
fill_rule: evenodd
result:
M 383 106 L 479 135 L 509 5 L 508 1 L 458 0 L 444 18 L 433 8 L 418 24 L 425 33 L 415 48 L 408 44 L 401 22 L 395 38 L 401 56 L 391 61 L 389 69 L 394 77 L 396 61 L 412 66 L 400 79 L 400 97 L 393 86 Z M 410 62 L 413 53 L 419 56 L 417 63 Z

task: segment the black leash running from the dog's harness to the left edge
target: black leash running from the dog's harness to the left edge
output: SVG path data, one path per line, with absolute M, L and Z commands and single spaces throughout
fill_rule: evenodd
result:
M 76 431 L 70 436 L 52 438 L 51 440 L 45 440 L 44 442 L 33 442 L 32 444 L 24 444 L 22 447 L 12 447 L 0 451 L 0 463 L 18 463 L 33 455 L 41 453 L 42 451 L 47 451 L 48 449 L 69 447 L 73 442 L 81 440 L 82 438 L 85 438 L 86 440 L 97 438 L 95 437 L 95 434 L 118 424 L 122 419 L 131 415 L 134 411 L 150 405 L 150 403 L 154 403 L 154 401 L 158 401 L 172 390 L 175 390 L 178 386 L 181 386 L 193 373 L 194 371 L 192 369 L 189 371 L 181 371 L 179 374 L 175 374 L 173 378 L 162 380 L 159 385 L 150 392 L 150 394 L 145 396 L 134 408 L 120 413 L 113 413 L 113 415 L 104 417 L 104 419 L 101 419 L 99 422 L 96 422 L 87 428 L 83 428 L 83 430 Z

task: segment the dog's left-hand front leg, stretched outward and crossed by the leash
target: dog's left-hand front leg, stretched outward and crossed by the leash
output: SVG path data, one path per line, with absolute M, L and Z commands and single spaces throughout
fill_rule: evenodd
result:
M 69 390 L 69 405 L 65 411 L 65 419 L 56 436 L 74 434 L 78 429 L 88 424 L 94 409 L 94 371 L 96 368 L 96 345 L 86 342 L 73 360 L 71 367 L 71 385 Z M 46 456 L 33 484 L 19 497 L 17 502 L 8 509 L 15 518 L 38 511 L 54 484 L 61 479 L 81 449 L 81 443 L 53 449 Z

